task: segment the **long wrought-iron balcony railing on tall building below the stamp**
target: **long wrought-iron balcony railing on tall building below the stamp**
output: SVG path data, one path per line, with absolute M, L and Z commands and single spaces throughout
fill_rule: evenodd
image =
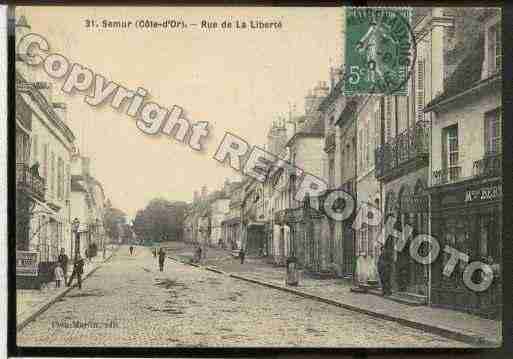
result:
M 429 122 L 418 121 L 413 128 L 405 130 L 376 149 L 376 177 L 387 176 L 413 159 L 427 163 L 428 155 Z

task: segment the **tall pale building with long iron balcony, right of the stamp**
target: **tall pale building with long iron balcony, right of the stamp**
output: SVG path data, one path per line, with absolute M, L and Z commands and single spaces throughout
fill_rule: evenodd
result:
M 408 96 L 381 100 L 383 121 L 376 149 L 376 177 L 383 186 L 382 211 L 393 215 L 397 226 L 409 224 L 415 233 L 429 232 L 426 192 L 429 176 L 431 115 L 425 105 L 443 91 L 444 66 L 449 38 L 455 36 L 454 19 L 442 8 L 415 8 L 413 30 L 417 55 L 410 74 Z M 387 241 L 393 246 L 392 241 Z M 392 265 L 392 290 L 396 299 L 426 303 L 429 298 L 429 267 L 402 251 L 387 251 Z

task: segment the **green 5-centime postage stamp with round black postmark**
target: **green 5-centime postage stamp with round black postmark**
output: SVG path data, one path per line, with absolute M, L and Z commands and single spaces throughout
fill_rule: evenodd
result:
M 416 57 L 410 8 L 347 8 L 344 95 L 406 96 Z

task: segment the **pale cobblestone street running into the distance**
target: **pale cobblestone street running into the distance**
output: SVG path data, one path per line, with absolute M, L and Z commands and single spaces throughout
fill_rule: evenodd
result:
M 19 346 L 461 347 L 464 343 L 121 248 L 18 332 Z

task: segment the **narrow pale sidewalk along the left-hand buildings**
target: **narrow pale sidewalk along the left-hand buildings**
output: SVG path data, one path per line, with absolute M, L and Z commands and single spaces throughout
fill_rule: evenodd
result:
M 98 256 L 93 258 L 91 263 L 86 261 L 84 266 L 84 274 L 82 275 L 82 281 L 91 275 L 96 269 L 108 261 L 112 255 L 116 252 L 106 251 L 105 260 L 103 259 L 103 253 L 99 253 Z M 68 279 L 72 272 L 72 266 L 68 268 Z M 75 281 L 76 284 L 76 281 Z M 74 284 L 74 285 L 75 285 Z M 74 286 L 73 285 L 73 286 Z M 37 315 L 45 311 L 52 303 L 57 301 L 63 295 L 65 295 L 71 288 L 61 284 L 61 288 L 55 288 L 55 282 L 50 282 L 45 288 L 41 290 L 37 289 L 17 289 L 16 290 L 16 329 L 20 330 L 30 321 L 32 321 Z

